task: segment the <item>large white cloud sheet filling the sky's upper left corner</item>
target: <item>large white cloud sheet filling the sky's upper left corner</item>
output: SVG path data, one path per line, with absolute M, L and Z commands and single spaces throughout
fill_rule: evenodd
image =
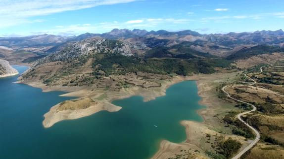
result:
M 0 28 L 39 21 L 34 16 L 137 0 L 0 0 Z

